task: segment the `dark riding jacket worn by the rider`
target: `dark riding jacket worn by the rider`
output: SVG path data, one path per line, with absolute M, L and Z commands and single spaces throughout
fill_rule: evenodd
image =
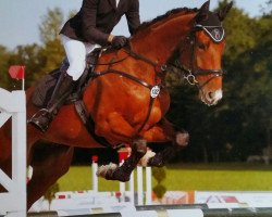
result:
M 104 46 L 109 34 L 123 15 L 126 16 L 129 33 L 133 34 L 140 24 L 139 1 L 120 0 L 116 8 L 115 0 L 83 0 L 79 12 L 64 24 L 60 34 Z

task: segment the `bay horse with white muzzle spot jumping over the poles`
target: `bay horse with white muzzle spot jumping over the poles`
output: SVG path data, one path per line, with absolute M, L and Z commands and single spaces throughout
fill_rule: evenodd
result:
M 209 11 L 209 1 L 200 9 L 174 9 L 144 23 L 126 48 L 106 51 L 95 68 L 96 78 L 86 86 L 82 102 L 95 123 L 95 133 L 112 146 L 128 143 L 131 156 L 122 166 L 99 170 L 109 180 L 127 181 L 139 161 L 146 157 L 146 142 L 171 141 L 173 145 L 145 158 L 149 166 L 163 166 L 188 133 L 178 131 L 164 117 L 170 94 L 164 87 L 169 66 L 199 89 L 208 105 L 222 98 L 221 59 L 225 46 L 221 22 L 232 3 L 219 12 Z M 34 87 L 27 92 L 27 118 L 39 107 L 32 103 Z M 0 168 L 11 174 L 11 123 L 0 129 Z M 34 155 L 35 143 L 45 140 L 58 145 Z M 70 168 L 74 148 L 101 148 L 88 132 L 73 104 L 64 105 L 42 133 L 27 125 L 27 163 L 34 168 L 27 183 L 27 206 L 38 200 Z M 2 151 L 3 150 L 3 151 Z M 150 152 L 149 152 L 150 153 Z

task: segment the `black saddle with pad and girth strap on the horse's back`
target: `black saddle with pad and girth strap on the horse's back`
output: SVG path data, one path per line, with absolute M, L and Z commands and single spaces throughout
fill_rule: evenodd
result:
M 84 123 L 86 129 L 91 135 L 91 137 L 98 143 L 102 144 L 103 146 L 109 148 L 111 146 L 109 142 L 103 137 L 98 137 L 95 133 L 95 122 L 92 120 L 90 115 L 87 113 L 86 106 L 82 100 L 83 92 L 84 92 L 86 85 L 89 84 L 97 76 L 94 71 L 95 71 L 97 60 L 100 56 L 101 52 L 102 52 L 102 49 L 97 48 L 86 56 L 86 68 L 83 75 L 81 76 L 81 78 L 75 84 L 74 90 L 69 95 L 64 104 L 73 103 L 75 105 L 78 116 L 81 117 L 82 122 Z M 32 97 L 32 102 L 34 105 L 36 105 L 37 107 L 47 106 L 60 75 L 66 72 L 67 67 L 69 67 L 69 61 L 67 59 L 64 59 L 60 68 L 52 71 L 39 81 Z

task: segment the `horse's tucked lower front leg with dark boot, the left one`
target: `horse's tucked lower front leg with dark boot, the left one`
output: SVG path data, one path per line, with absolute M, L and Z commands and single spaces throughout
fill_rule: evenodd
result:
M 110 164 L 101 166 L 98 169 L 97 176 L 103 177 L 108 180 L 128 181 L 132 171 L 137 166 L 139 159 L 146 154 L 147 145 L 143 139 L 137 139 L 132 144 L 132 152 L 127 159 L 121 166 Z

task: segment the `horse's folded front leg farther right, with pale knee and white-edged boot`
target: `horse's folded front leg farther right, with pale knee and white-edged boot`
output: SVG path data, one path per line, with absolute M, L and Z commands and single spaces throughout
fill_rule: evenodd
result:
M 172 142 L 172 145 L 169 145 L 157 154 L 148 151 L 140 159 L 143 166 L 162 167 L 168 161 L 173 158 L 181 149 L 188 144 L 189 135 L 183 129 L 177 129 L 168 119 L 163 118 L 158 125 L 144 133 L 144 139 L 152 142 Z

